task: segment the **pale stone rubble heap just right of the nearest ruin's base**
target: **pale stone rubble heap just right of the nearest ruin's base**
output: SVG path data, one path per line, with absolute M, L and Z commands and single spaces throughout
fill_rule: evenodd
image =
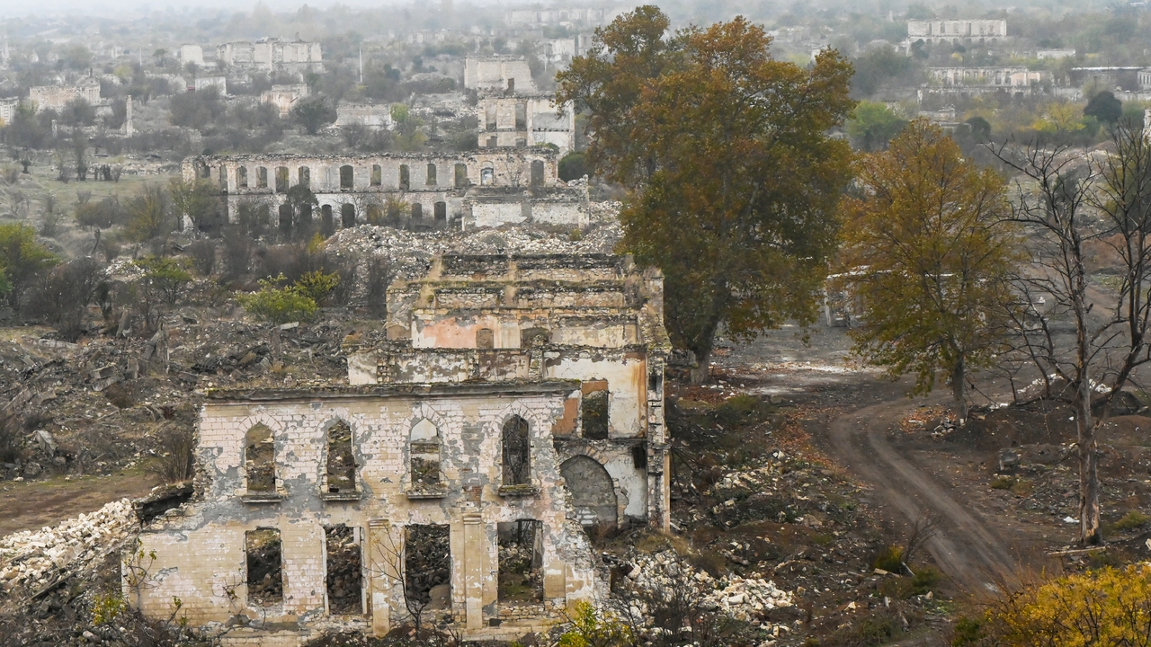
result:
M 642 555 L 633 560 L 633 568 L 627 573 L 635 586 L 653 593 L 666 592 L 678 587 L 692 587 L 702 597 L 701 606 L 708 610 L 722 610 L 724 614 L 741 622 L 762 626 L 762 617 L 771 609 L 792 607 L 792 593 L 782 591 L 771 581 L 763 579 L 744 579 L 725 577 L 715 579 L 704 571 L 698 571 L 685 563 L 673 550 L 664 550 L 653 555 Z M 633 614 L 646 616 L 643 609 L 632 609 Z M 780 630 L 784 625 L 780 625 Z M 771 626 L 763 626 L 776 634 Z

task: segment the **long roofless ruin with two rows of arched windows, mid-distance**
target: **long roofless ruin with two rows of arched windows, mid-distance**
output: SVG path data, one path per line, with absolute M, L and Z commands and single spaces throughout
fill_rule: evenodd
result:
M 587 187 L 562 182 L 557 154 L 548 147 L 456 155 L 203 155 L 185 160 L 183 175 L 218 183 L 230 221 L 247 201 L 282 228 L 306 220 L 330 233 L 379 222 L 397 205 L 416 229 L 588 221 Z M 297 185 L 312 191 L 318 213 L 312 206 L 303 213 L 292 208 L 289 191 Z

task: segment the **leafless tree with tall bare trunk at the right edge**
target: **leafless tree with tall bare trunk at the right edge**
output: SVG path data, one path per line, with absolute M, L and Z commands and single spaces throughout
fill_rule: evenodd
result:
M 1098 431 L 1133 372 L 1151 361 L 1151 143 L 1142 129 L 1115 128 L 1115 151 L 1090 157 L 1067 146 L 996 155 L 1019 174 L 1012 219 L 1036 234 L 1031 267 L 1021 286 L 1046 292 L 1052 303 L 1039 319 L 1069 317 L 1075 341 L 1060 348 L 1050 328 L 1032 326 L 1037 364 L 1068 385 L 1075 409 L 1080 457 L 1080 541 L 1103 541 L 1099 509 Z M 1114 289 L 1088 276 L 1089 248 L 1115 253 Z M 1092 412 L 1096 396 L 1099 416 Z

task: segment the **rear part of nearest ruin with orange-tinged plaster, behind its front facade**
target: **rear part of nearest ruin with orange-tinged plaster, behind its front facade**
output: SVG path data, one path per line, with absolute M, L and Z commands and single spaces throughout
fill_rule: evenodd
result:
M 658 272 L 603 254 L 444 256 L 388 290 L 388 337 L 348 349 L 349 382 L 579 380 L 580 424 L 555 444 L 564 475 L 582 475 L 567 480 L 581 523 L 666 527 Z

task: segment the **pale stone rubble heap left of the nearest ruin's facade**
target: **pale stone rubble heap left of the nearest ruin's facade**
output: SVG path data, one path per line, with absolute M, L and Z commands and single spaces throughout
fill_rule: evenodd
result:
M 139 531 L 131 501 L 113 501 L 53 527 L 0 538 L 0 586 L 39 589 L 68 572 L 91 569 Z

